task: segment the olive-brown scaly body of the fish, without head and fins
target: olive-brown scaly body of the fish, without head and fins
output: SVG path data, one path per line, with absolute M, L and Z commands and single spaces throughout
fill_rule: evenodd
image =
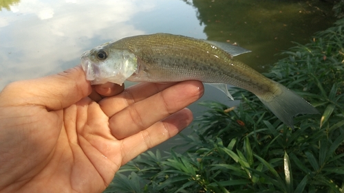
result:
M 111 47 L 130 49 L 146 63 L 156 82 L 172 82 L 178 78 L 232 84 L 252 93 L 271 91 L 268 78 L 233 60 L 222 49 L 195 38 L 169 37 L 169 34 L 134 36 L 123 38 Z

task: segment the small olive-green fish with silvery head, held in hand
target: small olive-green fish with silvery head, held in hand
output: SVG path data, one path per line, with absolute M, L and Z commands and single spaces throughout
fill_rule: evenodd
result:
M 80 59 L 91 84 L 199 80 L 233 100 L 227 88 L 230 84 L 257 95 L 290 128 L 294 128 L 294 115 L 319 113 L 290 89 L 234 59 L 248 52 L 229 43 L 158 33 L 104 43 Z

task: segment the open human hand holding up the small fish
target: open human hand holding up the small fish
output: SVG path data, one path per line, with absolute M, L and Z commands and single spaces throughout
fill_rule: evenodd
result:
M 92 88 L 80 67 L 9 84 L 0 93 L 0 190 L 102 192 L 120 166 L 189 125 L 184 107 L 204 91 L 197 81 L 123 89 Z

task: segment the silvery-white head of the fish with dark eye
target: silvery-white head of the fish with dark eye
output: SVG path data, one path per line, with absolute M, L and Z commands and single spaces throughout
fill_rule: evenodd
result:
M 84 52 L 81 66 L 91 84 L 114 82 L 121 85 L 138 69 L 135 54 L 126 49 L 113 49 L 109 43 Z

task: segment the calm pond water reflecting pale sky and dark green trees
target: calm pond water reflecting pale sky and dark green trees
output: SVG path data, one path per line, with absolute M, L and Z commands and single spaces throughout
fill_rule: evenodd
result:
M 252 50 L 237 59 L 266 71 L 292 41 L 307 43 L 334 21 L 332 5 L 321 1 L 7 0 L 0 9 L 0 90 L 74 67 L 101 43 L 157 32 L 237 43 Z M 201 100 L 228 104 L 212 87 Z M 195 115 L 204 111 L 190 108 Z

